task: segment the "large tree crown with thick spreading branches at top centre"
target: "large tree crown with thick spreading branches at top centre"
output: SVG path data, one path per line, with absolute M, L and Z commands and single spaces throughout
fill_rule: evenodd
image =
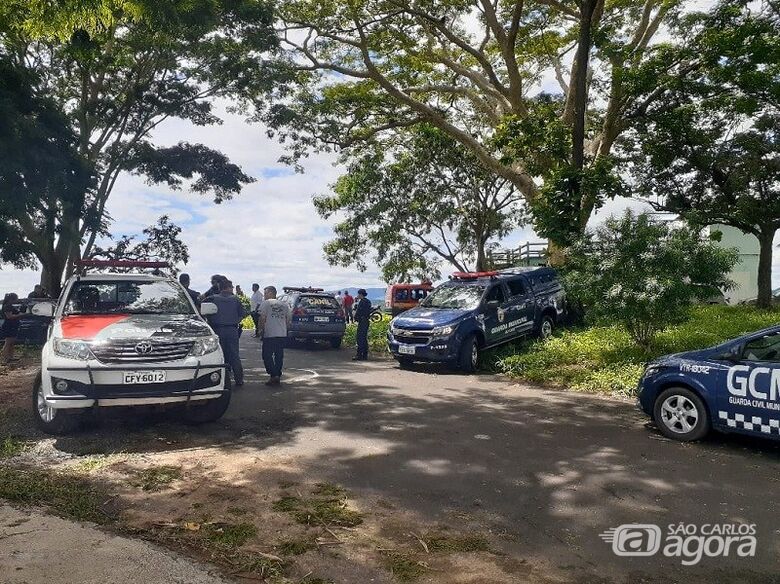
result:
M 624 80 L 679 4 L 290 0 L 277 11 L 301 84 L 264 119 L 292 142 L 291 160 L 311 147 L 350 148 L 429 123 L 511 182 L 534 211 L 548 193 L 565 192 L 560 224 L 581 233 L 603 195 L 580 186 L 602 176 L 601 159 L 646 106 L 631 99 Z M 553 120 L 536 118 L 532 103 L 546 75 L 562 91 Z M 602 101 L 603 111 L 594 107 Z M 524 123 L 551 129 L 549 166 L 531 169 L 518 156 L 523 149 L 512 142 L 522 136 L 513 130 Z M 541 188 L 548 183 L 556 184 Z M 545 217 L 542 231 L 557 216 Z M 550 235 L 561 231 L 556 224 Z

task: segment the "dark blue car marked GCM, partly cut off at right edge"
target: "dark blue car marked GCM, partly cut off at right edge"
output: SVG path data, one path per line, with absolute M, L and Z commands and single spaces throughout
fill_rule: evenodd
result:
M 652 361 L 639 405 L 676 440 L 712 429 L 780 438 L 780 326 Z

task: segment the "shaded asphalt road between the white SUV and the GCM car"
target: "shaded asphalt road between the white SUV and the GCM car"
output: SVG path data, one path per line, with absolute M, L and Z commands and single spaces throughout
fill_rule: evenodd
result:
M 680 444 L 631 403 L 442 368 L 353 363 L 347 351 L 290 350 L 284 385 L 271 389 L 257 341 L 242 339 L 242 352 L 248 383 L 223 420 L 186 440 L 180 425 L 162 437 L 155 428 L 155 448 L 230 454 L 251 444 L 258 473 L 284 460 L 290 472 L 390 501 L 430 524 L 463 517 L 500 534 L 506 557 L 558 581 L 780 582 L 775 443 Z M 112 426 L 56 446 L 84 453 L 93 440 L 109 442 L 101 451 L 149 452 L 151 443 L 143 429 Z M 666 531 L 743 522 L 757 526 L 754 558 L 732 549 L 690 567 L 660 555 L 618 557 L 599 537 L 628 523 Z

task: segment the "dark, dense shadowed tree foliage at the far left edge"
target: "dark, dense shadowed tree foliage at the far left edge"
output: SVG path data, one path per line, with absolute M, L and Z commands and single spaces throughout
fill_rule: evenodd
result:
M 20 269 L 36 262 L 57 269 L 94 187 L 75 133 L 39 83 L 0 57 L 0 263 Z

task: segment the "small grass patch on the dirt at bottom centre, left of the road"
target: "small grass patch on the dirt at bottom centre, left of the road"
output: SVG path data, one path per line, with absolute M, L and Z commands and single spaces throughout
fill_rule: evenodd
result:
M 318 483 L 311 496 L 284 494 L 274 501 L 275 511 L 287 513 L 303 525 L 355 527 L 363 523 L 363 516 L 347 505 L 347 492 L 336 485 Z

